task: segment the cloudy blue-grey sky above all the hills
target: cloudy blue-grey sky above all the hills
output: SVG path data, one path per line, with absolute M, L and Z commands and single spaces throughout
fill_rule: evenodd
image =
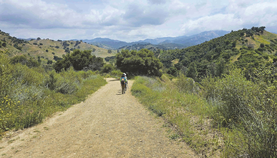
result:
M 277 0 L 0 0 L 0 30 L 17 38 L 126 42 L 266 26 Z

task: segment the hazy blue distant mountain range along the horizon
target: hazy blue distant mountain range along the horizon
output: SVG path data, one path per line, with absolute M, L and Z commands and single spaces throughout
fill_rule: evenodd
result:
M 224 30 L 214 30 L 214 31 L 205 31 L 199 34 L 191 35 L 191 36 L 178 36 L 178 37 L 162 37 L 155 39 L 145 39 L 139 40 L 136 42 L 124 42 L 119 40 L 113 40 L 110 38 L 95 38 L 95 39 L 71 39 L 70 41 L 80 41 L 86 42 L 88 44 L 92 44 L 98 46 L 100 48 L 117 50 L 117 49 L 137 49 L 154 47 L 157 49 L 182 49 L 189 46 L 194 46 L 197 44 L 201 44 L 205 41 L 210 41 L 211 39 L 223 36 L 229 33 L 229 31 Z M 31 40 L 34 38 L 28 38 L 24 40 Z M 139 46 L 139 47 L 138 47 Z

